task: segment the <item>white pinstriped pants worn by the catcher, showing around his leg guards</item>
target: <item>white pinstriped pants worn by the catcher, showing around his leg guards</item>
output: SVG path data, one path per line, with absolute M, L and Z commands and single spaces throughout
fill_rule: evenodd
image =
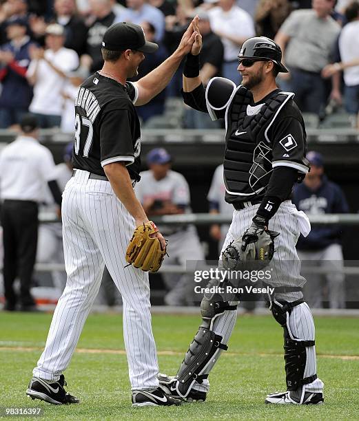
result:
M 225 250 L 231 241 L 243 235 L 252 224 L 252 218 L 256 215 L 258 207 L 259 204 L 246 207 L 243 210 L 234 210 L 232 224 L 229 226 L 222 250 Z M 300 231 L 307 229 L 307 233 L 309 232 L 309 222 L 305 228 L 303 228 L 303 224 L 305 225 L 305 221 L 303 222 L 302 213 L 298 213 L 296 206 L 289 200 L 280 204 L 276 215 L 270 219 L 269 229 L 280 233 L 274 240 L 276 250 L 273 257 L 274 270 L 271 274 L 271 280 L 268 281 L 271 285 L 302 287 L 305 284 L 305 279 L 300 275 L 300 260 L 296 251 L 296 242 Z M 276 270 L 276 268 L 278 269 Z M 302 292 L 276 293 L 276 300 L 293 302 L 301 298 Z M 229 302 L 229 304 L 235 305 L 238 304 L 238 301 Z M 214 320 L 212 330 L 223 336 L 222 343 L 227 344 L 229 341 L 236 324 L 236 318 L 236 311 L 225 310 Z M 301 303 L 292 309 L 287 321 L 287 328 L 298 341 L 314 341 L 314 320 L 307 303 Z M 306 347 L 306 352 L 305 378 L 316 374 L 316 347 Z M 218 358 L 216 358 L 216 361 L 218 361 Z M 322 392 L 323 382 L 317 378 L 304 387 L 307 391 Z M 201 385 L 195 383 L 194 389 L 208 391 L 208 380 L 203 380 Z

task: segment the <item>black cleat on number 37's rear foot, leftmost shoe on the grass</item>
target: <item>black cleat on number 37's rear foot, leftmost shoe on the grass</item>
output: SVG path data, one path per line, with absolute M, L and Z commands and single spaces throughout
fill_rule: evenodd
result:
M 42 378 L 33 377 L 26 394 L 32 399 L 45 400 L 55 405 L 79 403 L 79 399 L 67 393 L 63 388 L 66 386 L 65 377 L 61 374 L 59 381 L 50 382 Z

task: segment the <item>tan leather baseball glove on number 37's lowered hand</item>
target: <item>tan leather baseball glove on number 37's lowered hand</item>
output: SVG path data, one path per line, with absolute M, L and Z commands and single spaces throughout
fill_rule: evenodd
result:
M 166 254 L 166 248 L 162 250 L 157 237 L 150 237 L 158 233 L 156 225 L 150 221 L 138 226 L 132 235 L 126 251 L 126 261 L 135 268 L 141 268 L 145 272 L 157 272 Z

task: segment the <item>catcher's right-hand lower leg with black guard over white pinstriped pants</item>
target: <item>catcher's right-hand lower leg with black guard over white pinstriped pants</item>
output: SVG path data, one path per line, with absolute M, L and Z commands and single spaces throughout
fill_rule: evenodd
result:
M 302 299 L 288 303 L 272 301 L 274 319 L 284 329 L 285 374 L 288 391 L 296 391 L 312 384 L 322 390 L 322 382 L 316 375 L 316 351 L 314 321 L 307 303 Z M 310 387 L 303 387 L 303 391 Z

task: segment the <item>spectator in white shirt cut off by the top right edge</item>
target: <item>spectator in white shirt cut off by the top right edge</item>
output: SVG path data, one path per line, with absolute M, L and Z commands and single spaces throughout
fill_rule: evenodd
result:
M 349 114 L 359 111 L 359 3 L 353 1 L 345 11 L 349 23 L 339 36 L 341 63 L 327 65 L 322 75 L 331 76 L 344 70 L 344 103 Z

